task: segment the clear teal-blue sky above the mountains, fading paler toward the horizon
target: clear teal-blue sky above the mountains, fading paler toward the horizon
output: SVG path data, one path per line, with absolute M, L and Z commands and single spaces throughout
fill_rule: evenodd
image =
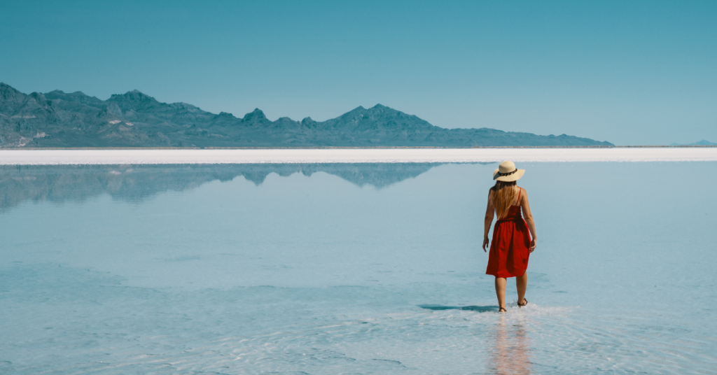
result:
M 0 82 L 241 117 L 717 142 L 717 1 L 0 1 Z

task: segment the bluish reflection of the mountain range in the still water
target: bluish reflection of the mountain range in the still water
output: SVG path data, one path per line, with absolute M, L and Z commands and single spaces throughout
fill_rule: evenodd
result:
M 275 173 L 311 176 L 326 172 L 357 186 L 377 189 L 411 179 L 440 163 L 157 164 L 92 166 L 0 166 L 0 212 L 23 201 L 84 201 L 103 193 L 140 202 L 163 191 L 184 191 L 237 176 L 257 185 Z

